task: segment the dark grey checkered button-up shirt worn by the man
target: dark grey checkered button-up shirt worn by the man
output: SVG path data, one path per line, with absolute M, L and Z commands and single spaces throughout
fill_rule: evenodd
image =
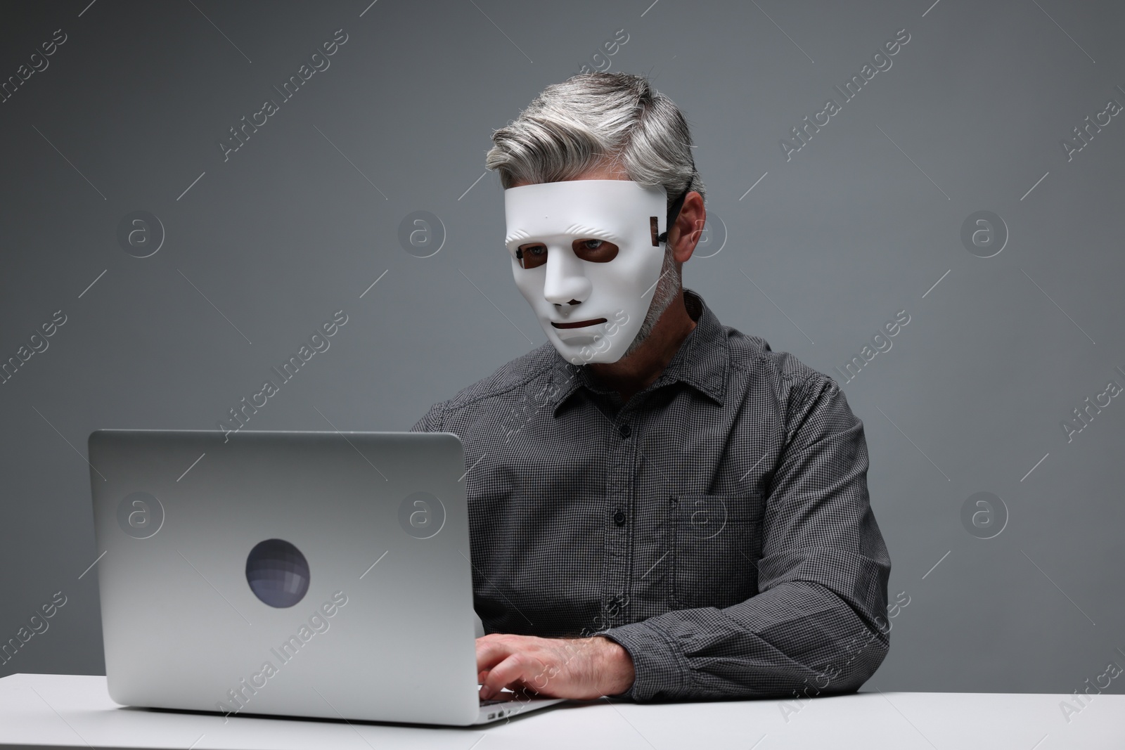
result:
M 548 342 L 414 426 L 465 445 L 477 613 L 620 643 L 634 701 L 855 690 L 890 630 L 863 423 L 684 299 L 695 328 L 627 404 Z

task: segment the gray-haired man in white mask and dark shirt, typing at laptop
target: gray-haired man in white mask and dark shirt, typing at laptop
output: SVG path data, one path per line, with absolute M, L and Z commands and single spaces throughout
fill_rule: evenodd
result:
M 705 209 L 680 110 L 575 75 L 493 142 L 548 342 L 414 426 L 465 444 L 482 697 L 855 690 L 890 630 L 863 424 L 683 289 Z

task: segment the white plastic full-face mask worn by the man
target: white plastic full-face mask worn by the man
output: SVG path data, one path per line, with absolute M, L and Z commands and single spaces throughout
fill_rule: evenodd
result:
M 515 286 L 568 362 L 616 362 L 637 337 L 664 262 L 667 210 L 663 187 L 629 180 L 504 191 Z

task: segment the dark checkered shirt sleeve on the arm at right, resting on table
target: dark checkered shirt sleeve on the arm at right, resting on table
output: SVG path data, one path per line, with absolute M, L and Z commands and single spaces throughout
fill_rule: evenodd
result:
M 868 504 L 863 423 L 821 373 L 790 397 L 789 442 L 763 515 L 758 594 L 600 632 L 633 660 L 636 680 L 621 697 L 847 693 L 886 654 L 891 560 Z

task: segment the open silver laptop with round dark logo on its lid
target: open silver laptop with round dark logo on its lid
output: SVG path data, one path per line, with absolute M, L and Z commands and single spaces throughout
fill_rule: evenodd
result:
M 129 706 L 485 724 L 452 433 L 99 430 L 109 696 Z

